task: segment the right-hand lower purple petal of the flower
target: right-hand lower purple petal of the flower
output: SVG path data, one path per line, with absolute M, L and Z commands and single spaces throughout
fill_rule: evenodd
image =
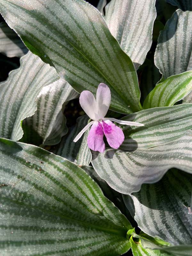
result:
M 119 128 L 109 120 L 103 121 L 102 125 L 109 146 L 111 148 L 119 148 L 125 138 L 121 128 Z

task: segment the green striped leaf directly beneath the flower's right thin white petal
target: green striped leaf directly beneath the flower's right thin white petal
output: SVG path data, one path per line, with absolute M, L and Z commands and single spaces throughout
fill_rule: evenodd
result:
M 145 126 L 123 126 L 125 140 L 120 148 L 146 149 L 173 141 L 192 129 L 192 104 L 149 108 L 123 119 Z

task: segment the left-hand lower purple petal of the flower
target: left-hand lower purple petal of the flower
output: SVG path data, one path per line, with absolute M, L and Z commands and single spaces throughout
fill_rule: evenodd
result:
M 105 151 L 105 143 L 103 141 L 103 127 L 100 122 L 94 122 L 87 138 L 88 147 L 94 151 L 103 153 Z

